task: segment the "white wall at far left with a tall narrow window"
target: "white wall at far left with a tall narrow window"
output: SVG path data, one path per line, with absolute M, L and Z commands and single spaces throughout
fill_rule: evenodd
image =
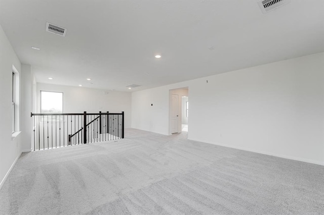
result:
M 11 131 L 13 66 L 21 75 L 20 61 L 0 26 L 0 185 L 22 150 L 21 135 L 12 140 Z

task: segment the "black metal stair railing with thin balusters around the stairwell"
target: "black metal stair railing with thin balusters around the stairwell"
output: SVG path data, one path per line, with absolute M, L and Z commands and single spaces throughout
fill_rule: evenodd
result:
M 124 112 L 32 114 L 33 150 L 124 138 Z

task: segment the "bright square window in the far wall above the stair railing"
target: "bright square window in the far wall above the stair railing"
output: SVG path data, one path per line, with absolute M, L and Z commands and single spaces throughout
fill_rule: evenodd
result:
M 63 92 L 41 91 L 41 114 L 62 114 L 63 113 Z M 56 117 L 53 116 L 55 120 Z M 45 120 L 52 121 L 52 118 L 45 117 Z M 57 118 L 57 120 L 60 120 Z M 43 121 L 43 119 L 42 119 Z

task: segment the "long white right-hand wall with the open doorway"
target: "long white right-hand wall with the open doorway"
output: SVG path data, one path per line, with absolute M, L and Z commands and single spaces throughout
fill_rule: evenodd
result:
M 188 86 L 188 139 L 324 165 L 323 78 L 318 53 L 133 92 L 132 127 L 168 135 L 169 90 Z

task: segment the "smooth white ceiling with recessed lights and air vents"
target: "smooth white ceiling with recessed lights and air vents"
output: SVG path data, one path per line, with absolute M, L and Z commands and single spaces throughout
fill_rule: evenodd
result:
M 322 52 L 323 11 L 323 0 L 267 14 L 257 0 L 0 0 L 0 24 L 37 82 L 134 91 Z

